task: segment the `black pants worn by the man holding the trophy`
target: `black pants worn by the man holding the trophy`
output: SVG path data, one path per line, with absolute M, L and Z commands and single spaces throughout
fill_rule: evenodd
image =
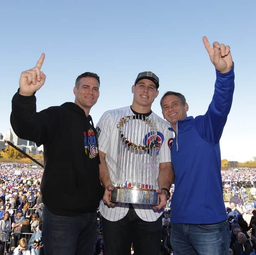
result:
M 134 254 L 159 255 L 162 217 L 152 222 L 143 221 L 130 207 L 119 221 L 102 217 L 102 228 L 106 255 L 131 255 L 131 243 Z

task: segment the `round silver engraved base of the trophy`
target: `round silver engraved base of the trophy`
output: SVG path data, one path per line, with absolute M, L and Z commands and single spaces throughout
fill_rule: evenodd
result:
M 158 205 L 158 193 L 155 190 L 137 190 L 115 187 L 111 191 L 111 202 Z

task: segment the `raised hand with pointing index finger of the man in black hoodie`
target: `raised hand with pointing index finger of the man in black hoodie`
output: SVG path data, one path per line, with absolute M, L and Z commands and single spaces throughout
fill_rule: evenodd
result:
M 19 79 L 19 94 L 22 96 L 31 96 L 40 89 L 45 83 L 46 76 L 41 71 L 43 61 L 45 60 L 45 53 L 42 53 L 36 66 L 32 69 L 21 73 Z

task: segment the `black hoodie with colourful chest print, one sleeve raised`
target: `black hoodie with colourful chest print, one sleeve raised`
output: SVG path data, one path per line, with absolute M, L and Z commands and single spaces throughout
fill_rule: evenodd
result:
M 44 146 L 43 203 L 52 213 L 94 212 L 103 196 L 97 133 L 91 116 L 72 102 L 36 112 L 36 97 L 16 93 L 10 116 L 19 138 Z

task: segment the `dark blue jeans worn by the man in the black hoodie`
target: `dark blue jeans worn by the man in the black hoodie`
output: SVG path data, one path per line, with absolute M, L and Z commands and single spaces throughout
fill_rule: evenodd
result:
M 59 216 L 45 207 L 42 228 L 45 255 L 92 255 L 96 224 L 96 211 L 78 216 Z

